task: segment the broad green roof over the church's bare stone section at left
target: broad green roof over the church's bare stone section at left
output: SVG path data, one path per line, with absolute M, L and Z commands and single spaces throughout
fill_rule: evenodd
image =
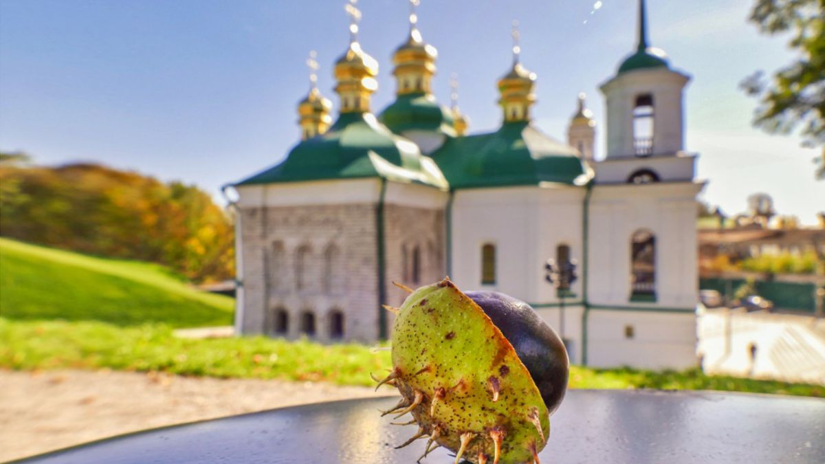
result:
M 447 187 L 436 163 L 370 113 L 343 113 L 326 133 L 295 145 L 283 162 L 235 185 L 373 177 Z

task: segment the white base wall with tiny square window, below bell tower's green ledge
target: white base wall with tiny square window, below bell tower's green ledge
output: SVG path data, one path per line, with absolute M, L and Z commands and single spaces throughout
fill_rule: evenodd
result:
M 634 337 L 625 337 L 625 326 Z M 695 367 L 695 314 L 591 310 L 587 319 L 587 365 L 642 369 Z

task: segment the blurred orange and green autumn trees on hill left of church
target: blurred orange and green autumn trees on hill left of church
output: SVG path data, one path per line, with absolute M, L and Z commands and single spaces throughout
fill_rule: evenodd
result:
M 233 227 L 181 182 L 97 164 L 0 164 L 0 235 L 162 263 L 195 281 L 233 276 Z

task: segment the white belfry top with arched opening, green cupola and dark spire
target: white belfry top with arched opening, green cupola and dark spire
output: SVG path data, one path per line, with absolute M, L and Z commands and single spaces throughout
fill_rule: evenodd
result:
M 647 12 L 639 0 L 636 51 L 601 85 L 607 104 L 606 159 L 674 155 L 684 149 L 682 91 L 691 79 L 648 45 Z

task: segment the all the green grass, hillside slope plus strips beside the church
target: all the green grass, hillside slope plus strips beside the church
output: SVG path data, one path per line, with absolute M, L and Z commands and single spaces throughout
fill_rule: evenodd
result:
M 229 324 L 233 301 L 196 291 L 163 267 L 0 239 L 0 368 L 112 368 L 190 376 L 373 384 L 389 352 L 265 337 L 177 339 L 176 327 Z M 572 367 L 572 388 L 751 391 L 825 397 L 825 387 Z

